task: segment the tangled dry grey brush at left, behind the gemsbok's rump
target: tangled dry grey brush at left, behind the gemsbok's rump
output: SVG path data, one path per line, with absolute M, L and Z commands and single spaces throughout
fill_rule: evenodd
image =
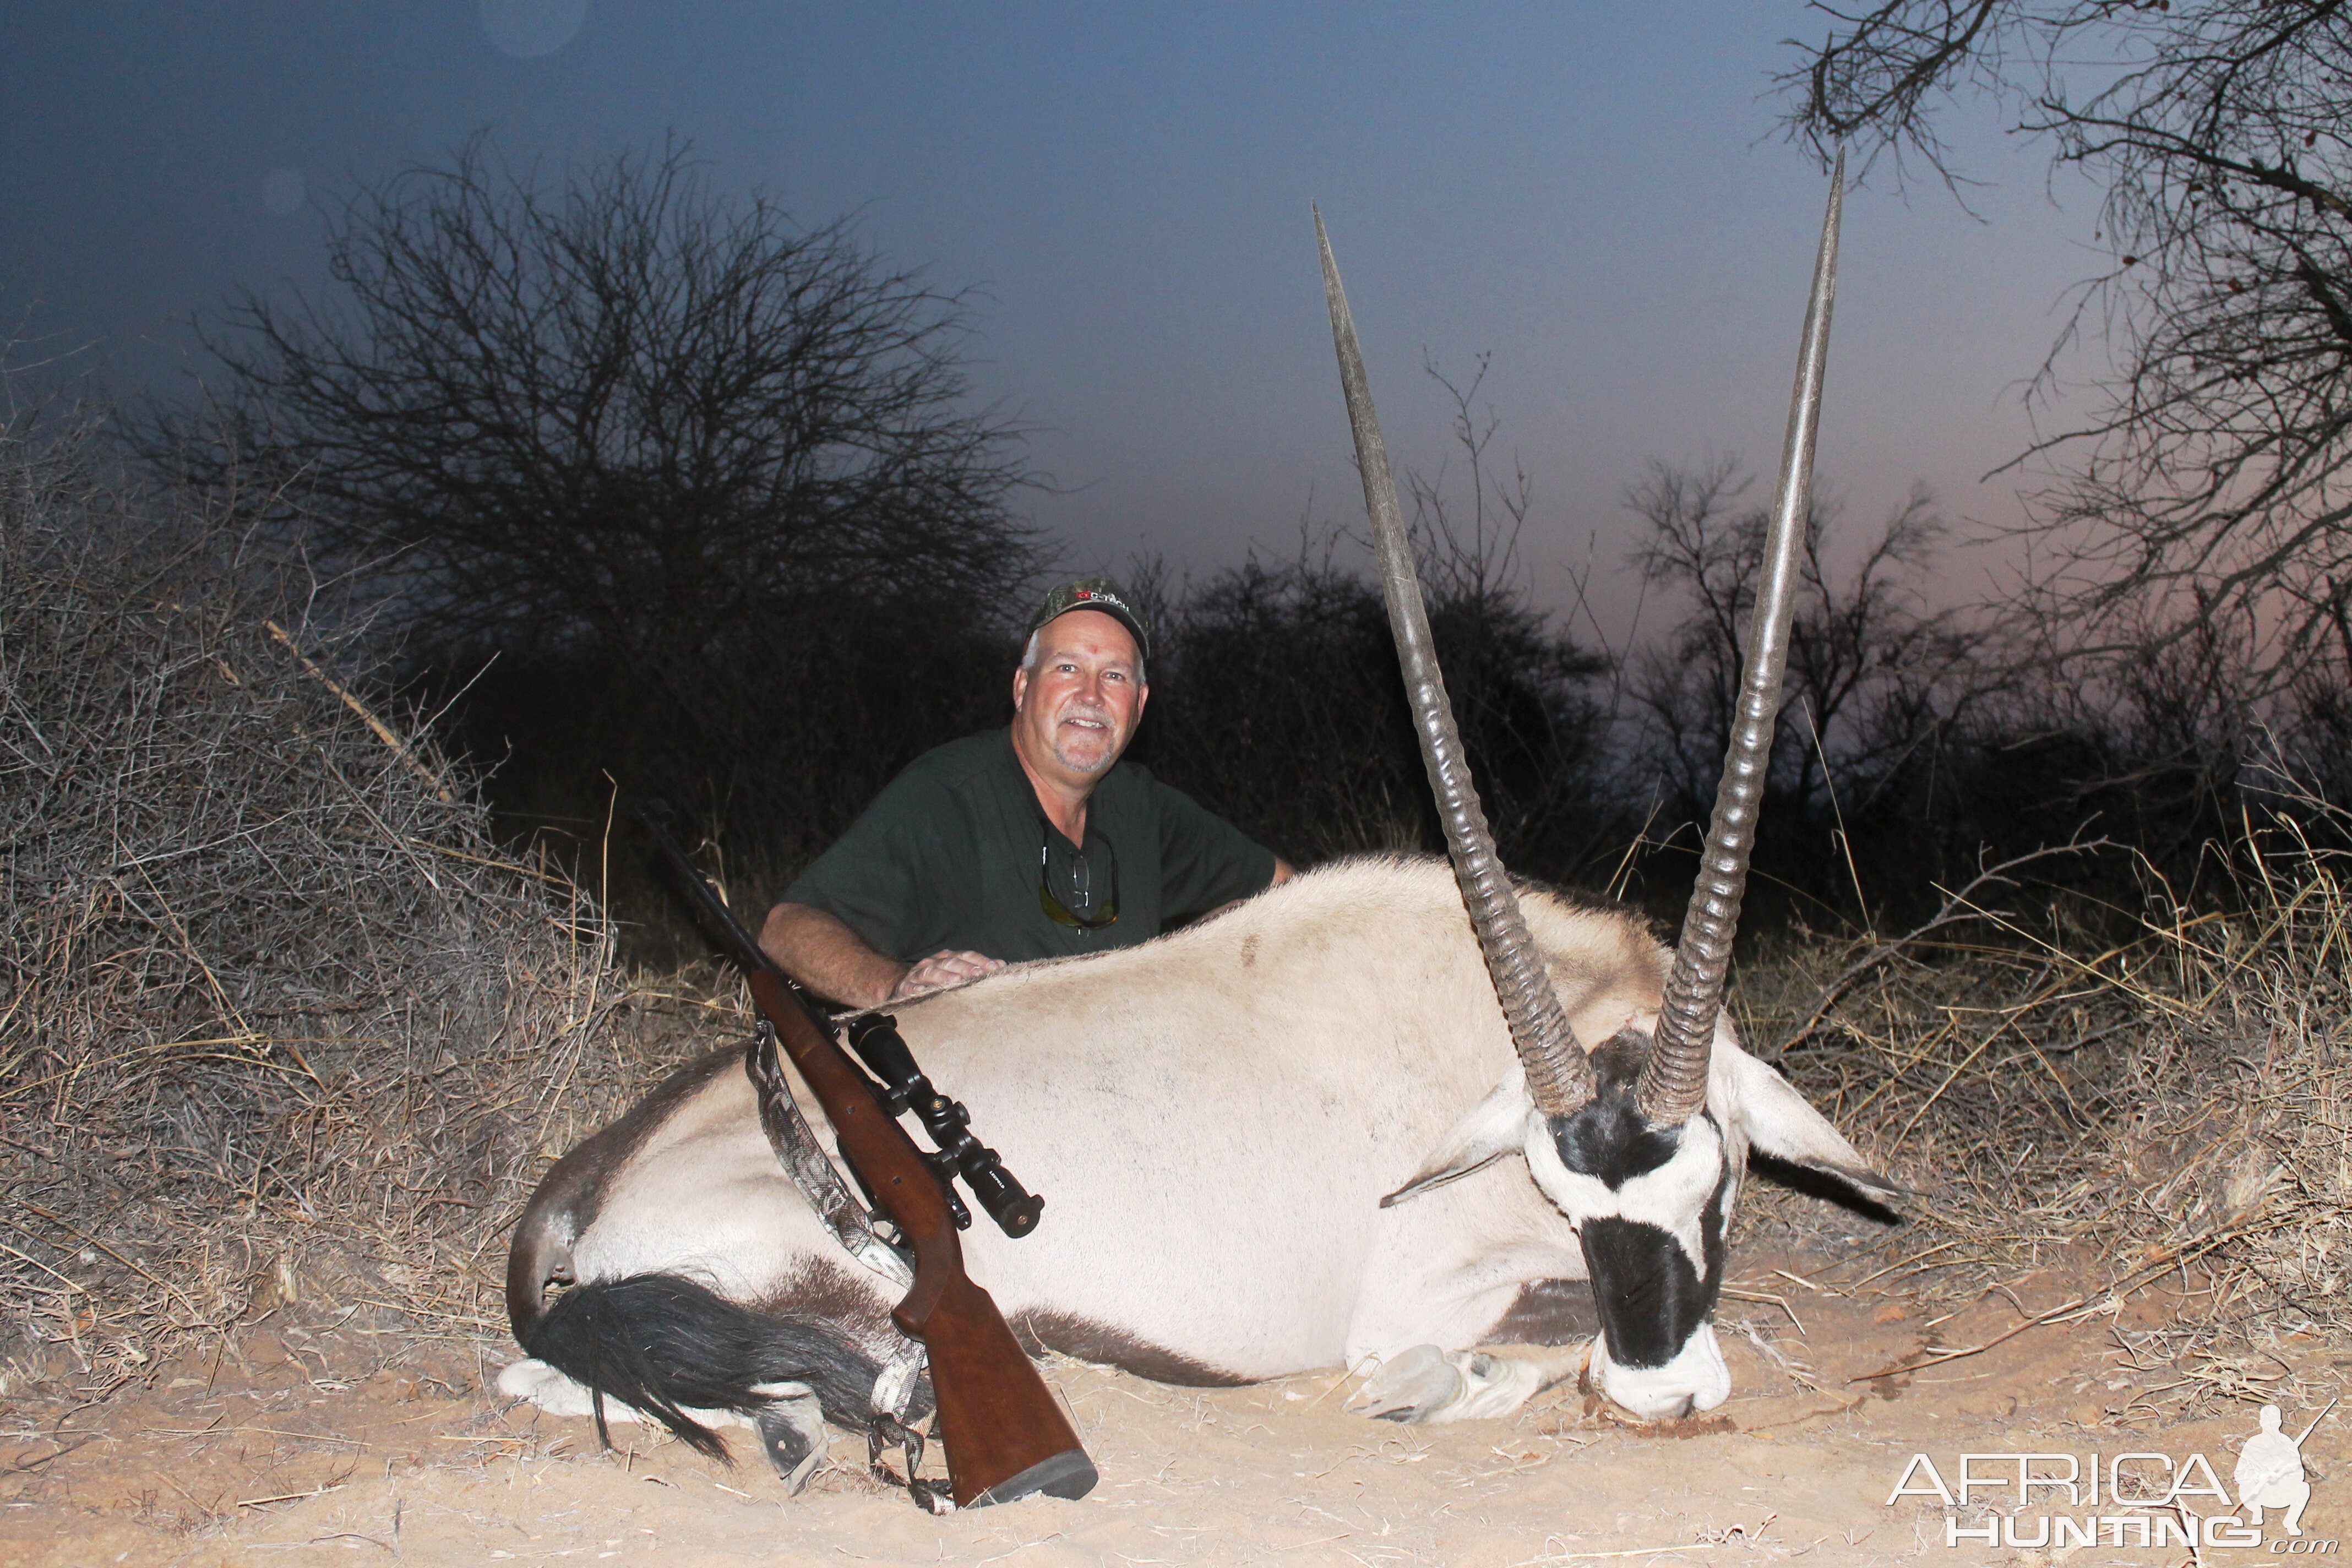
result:
M 289 1295 L 494 1321 L 541 1154 L 637 1079 L 597 910 L 332 684 L 315 609 L 235 508 L 0 430 L 12 1392 L 101 1394 Z

